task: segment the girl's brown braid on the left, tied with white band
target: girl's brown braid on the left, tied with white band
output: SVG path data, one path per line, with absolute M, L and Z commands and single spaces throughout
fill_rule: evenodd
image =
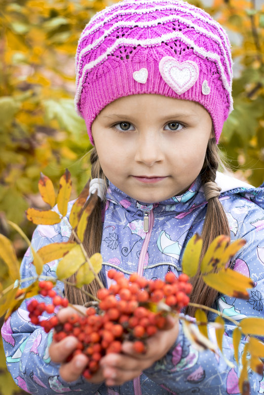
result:
M 101 178 L 106 182 L 107 179 L 100 166 L 99 158 L 95 148 L 93 148 L 91 152 L 90 162 L 92 165 L 91 167 L 92 178 Z M 94 210 L 89 216 L 89 220 L 87 222 L 86 230 L 84 233 L 84 239 L 82 243 L 88 256 L 91 256 L 96 252 L 100 252 L 101 243 L 102 243 L 102 232 L 103 232 L 102 205 L 101 205 L 101 200 L 98 199 Z M 70 240 L 75 240 L 73 234 L 71 235 Z M 67 279 L 67 281 L 71 283 L 75 283 L 75 275 L 71 276 L 69 279 Z M 83 305 L 88 301 L 87 297 L 84 296 L 84 294 L 79 289 L 76 289 L 75 287 L 71 287 L 68 284 L 65 284 L 64 287 L 65 287 L 65 296 L 68 298 L 70 303 Z M 92 281 L 91 284 L 84 285 L 82 289 L 96 296 L 97 291 L 99 289 L 99 285 L 97 281 L 94 280 Z

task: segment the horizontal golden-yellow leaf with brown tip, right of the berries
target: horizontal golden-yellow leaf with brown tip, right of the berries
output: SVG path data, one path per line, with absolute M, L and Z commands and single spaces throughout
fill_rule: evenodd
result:
M 249 298 L 247 288 L 254 286 L 251 279 L 228 268 L 219 273 L 206 274 L 203 276 L 203 280 L 221 293 L 242 299 Z

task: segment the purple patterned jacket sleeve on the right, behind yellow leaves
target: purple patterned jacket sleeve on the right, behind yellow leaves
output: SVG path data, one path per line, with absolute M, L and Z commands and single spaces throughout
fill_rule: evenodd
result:
M 255 213 L 256 214 L 256 213 Z M 254 287 L 249 289 L 249 299 L 242 300 L 226 295 L 220 295 L 216 306 L 221 313 L 233 320 L 240 321 L 246 317 L 260 317 L 263 315 L 264 300 L 264 212 L 258 209 L 258 215 L 246 215 L 241 224 L 241 231 L 235 238 L 244 238 L 247 244 L 234 258 L 231 268 L 254 281 Z M 215 316 L 209 314 L 208 321 L 214 321 Z M 166 388 L 172 394 L 199 395 L 215 394 L 239 394 L 238 374 L 239 366 L 234 359 L 232 333 L 235 325 L 226 319 L 225 335 L 223 337 L 223 354 L 218 350 L 213 353 L 210 350 L 199 351 L 190 343 L 183 332 L 180 323 L 180 332 L 174 346 L 168 354 L 155 362 L 144 373 L 156 384 Z M 211 340 L 216 342 L 214 328 L 208 327 Z M 243 353 L 246 338 L 242 337 L 239 346 L 239 354 Z M 233 367 L 226 363 L 233 364 Z M 248 372 L 250 382 L 250 394 L 264 394 L 264 376 Z

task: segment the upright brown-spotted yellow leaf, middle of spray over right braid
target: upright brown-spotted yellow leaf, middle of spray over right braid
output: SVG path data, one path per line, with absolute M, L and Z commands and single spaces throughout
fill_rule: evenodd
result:
M 228 242 L 229 237 L 225 235 L 220 235 L 212 241 L 202 259 L 202 274 L 211 272 L 218 265 Z

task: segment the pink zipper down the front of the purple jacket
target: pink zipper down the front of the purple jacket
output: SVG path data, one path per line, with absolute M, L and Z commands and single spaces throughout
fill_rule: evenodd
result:
M 143 275 L 143 270 L 144 270 L 144 261 L 145 261 L 145 256 L 148 251 L 149 243 L 151 240 L 151 231 L 153 228 L 154 224 L 154 215 L 153 211 L 145 212 L 144 213 L 144 232 L 146 232 L 146 238 L 143 242 L 142 250 L 140 252 L 139 256 L 139 264 L 138 264 L 138 274 L 140 276 Z M 142 395 L 141 391 L 141 386 L 140 386 L 140 376 L 136 377 L 133 380 L 133 385 L 134 385 L 134 394 L 135 395 Z

